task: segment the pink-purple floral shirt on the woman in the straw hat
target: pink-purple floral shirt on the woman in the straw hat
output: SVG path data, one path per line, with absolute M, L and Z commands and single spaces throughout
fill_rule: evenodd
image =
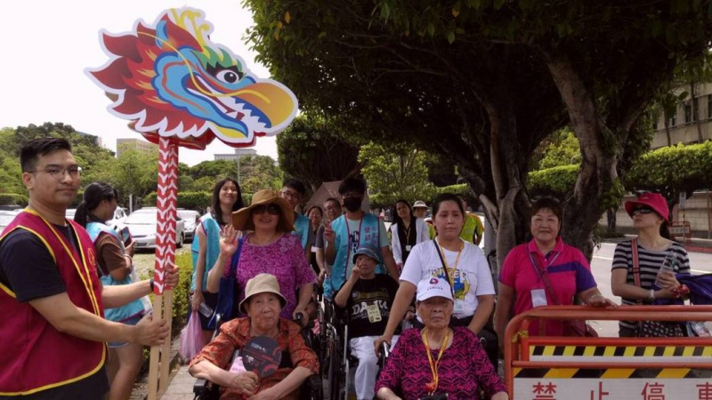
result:
M 239 254 L 238 304 L 245 299 L 248 280 L 259 274 L 271 274 L 277 277 L 279 292 L 287 299 L 287 305 L 282 308 L 279 316 L 291 320 L 298 300 L 297 291 L 304 284 L 313 284 L 317 281 L 317 276 L 306 260 L 302 244 L 299 243 L 297 236 L 285 234 L 272 244 L 254 245 L 249 244 L 250 236 L 245 236 Z M 225 268 L 225 276 L 230 272 L 229 263 L 230 261 Z

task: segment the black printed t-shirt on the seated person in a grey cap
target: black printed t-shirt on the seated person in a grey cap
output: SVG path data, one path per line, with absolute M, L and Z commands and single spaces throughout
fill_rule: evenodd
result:
M 373 279 L 359 279 L 353 285 L 349 300 L 346 300 L 349 337 L 382 335 L 385 325 L 388 324 L 388 316 L 391 314 L 396 292 L 398 292 L 398 283 L 391 276 L 378 274 Z M 372 310 L 370 317 L 369 307 Z M 376 309 L 377 314 L 373 312 Z

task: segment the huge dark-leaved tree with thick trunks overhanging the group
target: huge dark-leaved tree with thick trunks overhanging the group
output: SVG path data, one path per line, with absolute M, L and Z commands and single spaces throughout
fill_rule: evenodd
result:
M 260 60 L 307 112 L 456 160 L 498 231 L 500 261 L 528 230 L 530 155 L 567 122 L 583 155 L 563 236 L 590 254 L 650 138 L 644 111 L 676 67 L 707 52 L 712 26 L 707 3 L 684 1 L 246 4 Z

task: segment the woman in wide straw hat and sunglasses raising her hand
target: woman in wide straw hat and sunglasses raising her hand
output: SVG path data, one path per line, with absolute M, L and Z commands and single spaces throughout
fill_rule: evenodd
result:
M 251 231 L 243 239 L 236 266 L 239 287 L 246 287 L 247 281 L 258 274 L 276 276 L 287 300 L 280 316 L 291 319 L 302 314 L 306 324 L 305 309 L 317 276 L 304 257 L 299 238 L 292 235 L 294 220 L 294 210 L 277 192 L 263 189 L 255 193 L 249 207 L 232 213 L 232 226 L 225 228 L 220 240 L 220 256 L 207 278 L 207 290 L 217 292 L 220 278 L 228 276 L 232 255 L 238 250 L 238 231 Z

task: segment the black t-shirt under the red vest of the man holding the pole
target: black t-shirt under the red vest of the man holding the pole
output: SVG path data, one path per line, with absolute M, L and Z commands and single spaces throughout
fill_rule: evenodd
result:
M 54 225 L 69 243 L 77 247 L 71 228 Z M 29 301 L 67 292 L 52 254 L 42 241 L 24 229 L 15 229 L 0 244 L 0 283 L 17 296 L 18 301 Z M 70 362 L 70 361 L 68 361 Z M 109 392 L 106 369 L 101 369 L 83 380 L 37 392 L 29 396 L 12 396 L 32 400 L 102 399 Z M 6 398 L 0 396 L 0 399 Z

